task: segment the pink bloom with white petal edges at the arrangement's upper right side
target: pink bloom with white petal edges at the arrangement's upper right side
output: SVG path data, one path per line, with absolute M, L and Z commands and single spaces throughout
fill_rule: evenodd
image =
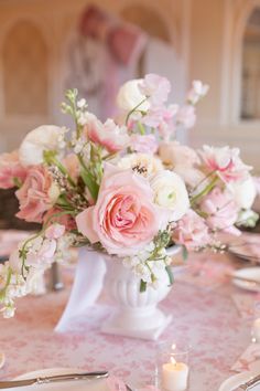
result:
M 246 166 L 238 148 L 204 146 L 201 157 L 208 171 L 216 171 L 224 182 L 245 180 L 251 167 Z

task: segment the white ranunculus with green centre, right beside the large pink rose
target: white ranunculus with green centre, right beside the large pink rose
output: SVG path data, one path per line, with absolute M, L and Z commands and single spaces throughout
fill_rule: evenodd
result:
M 187 189 L 182 178 L 175 172 L 164 170 L 151 180 L 154 202 L 171 211 L 170 221 L 180 220 L 189 208 Z

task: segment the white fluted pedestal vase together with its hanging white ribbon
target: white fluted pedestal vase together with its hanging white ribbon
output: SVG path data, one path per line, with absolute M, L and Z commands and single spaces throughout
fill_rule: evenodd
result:
M 178 247 L 167 253 L 174 255 Z M 55 328 L 56 331 L 72 329 L 75 317 L 86 316 L 102 289 L 115 302 L 111 317 L 104 321 L 101 331 L 133 338 L 155 340 L 171 323 L 172 316 L 158 308 L 158 304 L 170 293 L 169 274 L 160 271 L 159 287 L 140 292 L 140 278 L 116 257 L 82 247 L 76 275 L 67 306 Z

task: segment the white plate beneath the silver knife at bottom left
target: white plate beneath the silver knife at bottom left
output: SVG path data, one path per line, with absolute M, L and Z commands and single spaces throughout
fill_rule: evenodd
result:
M 24 380 L 37 377 L 47 377 L 47 376 L 55 376 L 55 374 L 67 374 L 73 372 L 83 372 L 77 368 L 50 368 L 50 369 L 42 369 L 34 372 L 24 373 L 19 376 L 13 380 Z M 10 390 L 10 389 L 8 389 Z M 17 391 L 39 391 L 39 385 L 28 385 L 28 387 L 15 387 L 12 390 Z M 75 381 L 65 381 L 65 382 L 57 382 L 57 383 L 48 383 L 48 384 L 41 384 L 42 391 L 109 391 L 106 380 L 105 379 L 97 379 L 97 380 L 75 380 Z

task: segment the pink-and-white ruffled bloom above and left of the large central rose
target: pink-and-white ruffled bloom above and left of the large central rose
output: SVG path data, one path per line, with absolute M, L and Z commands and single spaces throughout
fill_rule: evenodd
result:
M 109 152 L 118 152 L 129 145 L 127 128 L 118 126 L 110 118 L 102 124 L 95 115 L 89 114 L 85 129 L 93 142 L 107 148 Z

